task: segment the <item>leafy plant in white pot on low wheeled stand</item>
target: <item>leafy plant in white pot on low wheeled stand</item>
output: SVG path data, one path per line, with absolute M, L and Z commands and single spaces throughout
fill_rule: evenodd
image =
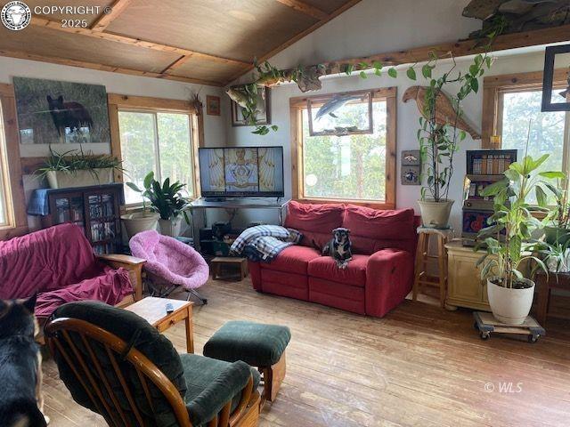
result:
M 505 178 L 482 192 L 483 196 L 493 197 L 494 213 L 488 220 L 490 226 L 477 235 L 486 246 L 486 254 L 477 265 L 483 265 L 481 277 L 487 280 L 493 316 L 507 325 L 522 324 L 533 303 L 534 282 L 525 278 L 523 262 L 531 260 L 536 263 L 533 270 L 547 271 L 544 262 L 533 255 L 536 248 L 532 233 L 542 227 L 533 211 L 548 212 L 542 178 L 553 173 L 537 171 L 548 157 L 545 154 L 533 160 L 527 156 L 509 165 Z M 527 203 L 532 191 L 538 205 Z

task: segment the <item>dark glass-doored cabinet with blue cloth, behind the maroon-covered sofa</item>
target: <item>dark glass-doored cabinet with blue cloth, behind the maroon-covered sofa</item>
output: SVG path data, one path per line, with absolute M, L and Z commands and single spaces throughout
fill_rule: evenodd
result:
M 95 254 L 120 253 L 123 184 L 69 189 L 37 189 L 28 214 L 41 215 L 42 227 L 73 222 L 85 232 Z

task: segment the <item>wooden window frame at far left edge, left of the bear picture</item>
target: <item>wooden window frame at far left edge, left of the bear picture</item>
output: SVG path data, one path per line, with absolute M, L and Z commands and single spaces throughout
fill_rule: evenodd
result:
M 6 223 L 0 225 L 0 240 L 28 232 L 28 216 L 20 160 L 20 135 L 13 85 L 0 84 L 1 116 L 4 136 L 0 136 L 0 185 L 3 186 Z

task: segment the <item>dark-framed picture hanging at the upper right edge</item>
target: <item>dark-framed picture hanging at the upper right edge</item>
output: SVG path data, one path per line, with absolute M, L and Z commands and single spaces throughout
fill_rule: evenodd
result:
M 568 70 L 566 87 L 554 87 L 554 70 L 558 68 Z M 541 111 L 570 111 L 570 44 L 546 48 L 542 79 Z

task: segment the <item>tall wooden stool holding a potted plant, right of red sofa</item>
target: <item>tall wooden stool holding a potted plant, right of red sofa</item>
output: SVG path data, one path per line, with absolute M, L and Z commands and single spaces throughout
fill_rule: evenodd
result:
M 439 286 L 439 303 L 445 306 L 445 292 L 447 290 L 447 253 L 445 244 L 452 230 L 418 228 L 418 248 L 416 250 L 415 276 L 412 288 L 412 300 L 418 300 L 418 292 L 423 285 Z M 431 236 L 437 239 L 437 255 L 429 254 L 429 240 Z M 437 260 L 437 277 L 428 276 L 428 261 Z

